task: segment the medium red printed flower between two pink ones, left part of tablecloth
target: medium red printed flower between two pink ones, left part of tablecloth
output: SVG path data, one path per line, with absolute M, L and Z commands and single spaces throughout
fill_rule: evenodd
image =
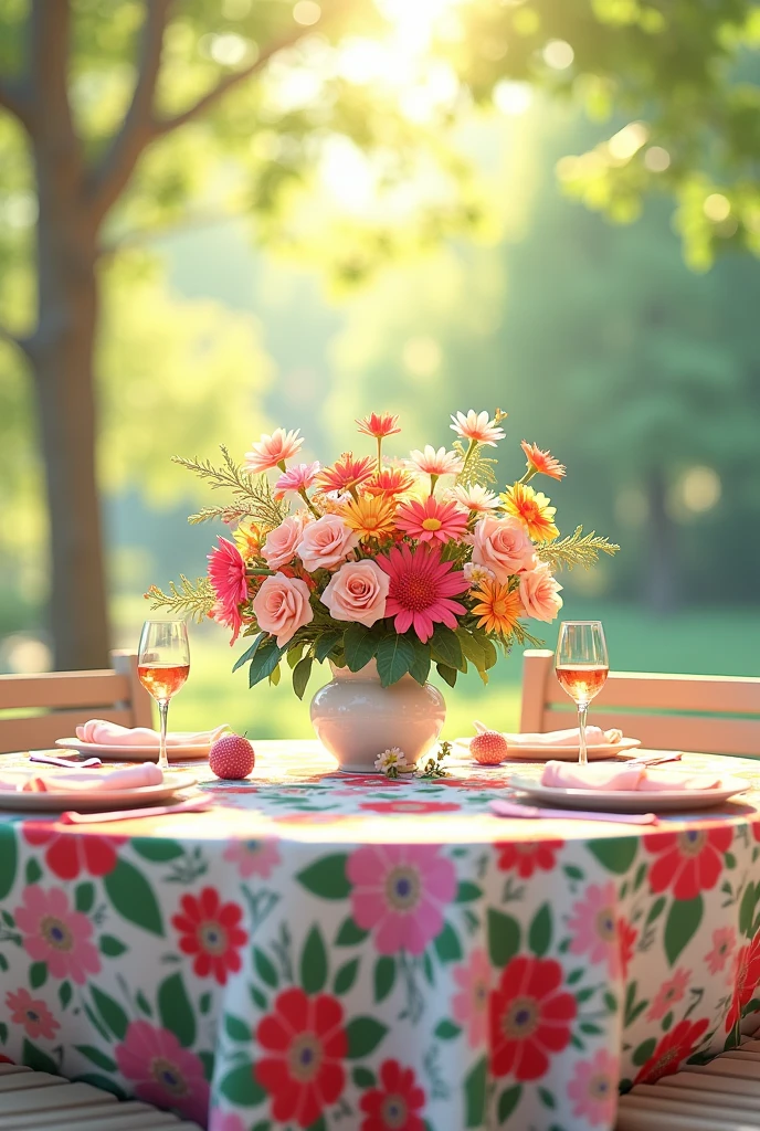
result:
M 200 978 L 209 975 L 221 986 L 228 973 L 240 969 L 239 949 L 248 942 L 248 933 L 240 927 L 242 910 L 238 904 L 222 904 L 214 888 L 204 888 L 200 896 L 182 896 L 182 914 L 174 915 L 172 925 L 180 932 L 180 950 L 195 955 L 192 964 Z

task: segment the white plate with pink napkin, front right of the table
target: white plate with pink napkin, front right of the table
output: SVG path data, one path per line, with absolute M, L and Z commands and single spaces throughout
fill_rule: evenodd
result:
M 530 778 L 512 774 L 509 784 L 539 804 L 564 809 L 589 809 L 601 813 L 658 813 L 676 810 L 712 809 L 728 797 L 746 793 L 752 786 L 745 778 L 724 777 L 717 789 L 562 789 L 541 785 Z

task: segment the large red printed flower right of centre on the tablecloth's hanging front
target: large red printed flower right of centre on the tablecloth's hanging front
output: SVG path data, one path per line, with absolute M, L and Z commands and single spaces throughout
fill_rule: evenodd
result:
M 562 967 L 551 958 L 518 955 L 491 994 L 491 1071 L 539 1080 L 551 1053 L 570 1044 L 576 999 L 561 990 Z

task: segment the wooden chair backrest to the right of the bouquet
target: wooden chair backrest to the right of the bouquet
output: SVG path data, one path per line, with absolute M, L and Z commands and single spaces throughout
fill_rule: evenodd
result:
M 526 651 L 520 731 L 572 726 L 571 711 L 554 677 L 554 654 Z M 605 731 L 621 727 L 656 750 L 760 757 L 760 679 L 611 672 L 590 722 Z

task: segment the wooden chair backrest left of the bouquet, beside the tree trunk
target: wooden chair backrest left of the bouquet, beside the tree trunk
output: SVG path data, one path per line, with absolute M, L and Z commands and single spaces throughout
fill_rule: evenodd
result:
M 107 671 L 0 675 L 0 753 L 52 746 L 90 718 L 153 726 L 153 699 L 138 679 L 136 654 L 112 651 L 111 662 Z

